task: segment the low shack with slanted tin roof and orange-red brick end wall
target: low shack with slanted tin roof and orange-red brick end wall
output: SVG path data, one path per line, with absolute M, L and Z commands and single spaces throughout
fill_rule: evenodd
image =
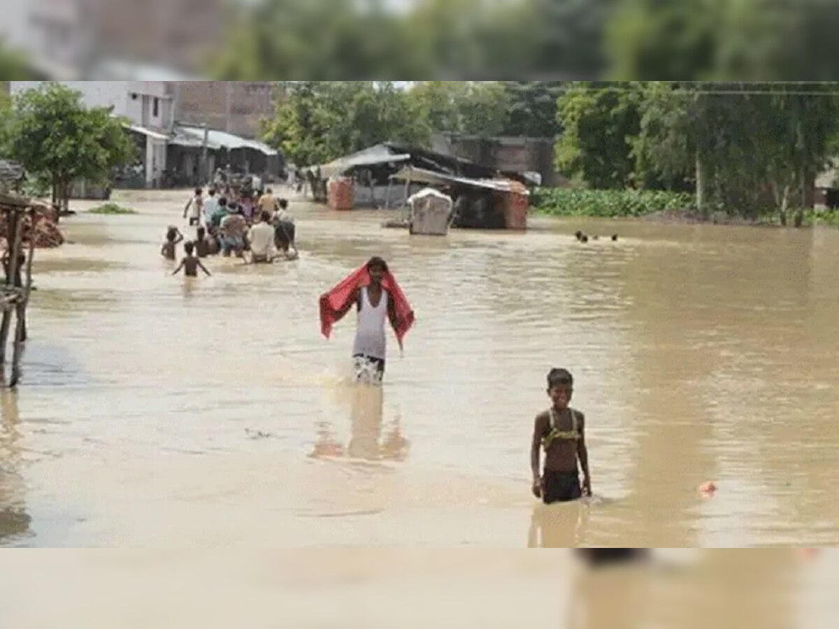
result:
M 470 229 L 527 229 L 529 190 L 514 179 L 470 179 L 405 166 L 399 181 L 443 190 L 455 200 L 451 226 Z

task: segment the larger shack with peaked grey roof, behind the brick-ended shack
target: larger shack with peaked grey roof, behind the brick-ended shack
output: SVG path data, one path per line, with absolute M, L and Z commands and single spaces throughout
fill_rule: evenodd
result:
M 393 175 L 408 166 L 467 179 L 497 179 L 502 176 L 498 170 L 475 164 L 468 159 L 398 143 L 376 144 L 328 164 L 307 169 L 306 174 L 315 200 L 326 200 L 318 197 L 319 190 L 322 195 L 322 191 L 327 189 L 324 182 L 347 177 L 353 181 L 354 207 L 389 209 L 404 205 L 411 195 L 425 187 L 424 182 L 410 179 L 405 180 L 402 187 L 393 185 Z M 507 176 L 524 181 L 520 174 L 509 173 Z

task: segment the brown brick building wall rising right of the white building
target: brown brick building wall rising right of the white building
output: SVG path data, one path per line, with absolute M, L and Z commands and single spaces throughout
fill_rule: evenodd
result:
M 257 138 L 260 122 L 274 114 L 274 81 L 173 81 L 175 118 Z

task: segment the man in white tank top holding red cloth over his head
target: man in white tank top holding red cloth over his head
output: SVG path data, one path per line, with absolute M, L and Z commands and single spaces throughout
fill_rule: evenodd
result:
M 335 289 L 320 298 L 320 327 L 329 338 L 332 325 L 355 306 L 358 328 L 352 357 L 358 381 L 381 382 L 387 358 L 385 322 L 390 321 L 399 347 L 414 325 L 414 311 L 390 273 L 388 263 L 373 257 Z

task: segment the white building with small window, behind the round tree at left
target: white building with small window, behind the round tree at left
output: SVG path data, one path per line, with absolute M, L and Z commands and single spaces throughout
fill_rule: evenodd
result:
M 43 81 L 11 81 L 17 94 Z M 81 92 L 87 107 L 113 107 L 115 116 L 131 121 L 145 141 L 146 184 L 155 186 L 166 169 L 166 146 L 175 124 L 174 98 L 167 81 L 59 81 Z

